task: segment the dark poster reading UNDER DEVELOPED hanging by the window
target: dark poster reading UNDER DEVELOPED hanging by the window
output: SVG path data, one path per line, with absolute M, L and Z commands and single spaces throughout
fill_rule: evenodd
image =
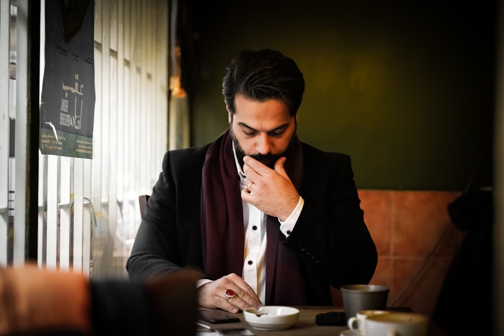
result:
M 45 2 L 44 56 L 40 151 L 91 159 L 96 99 L 94 1 Z

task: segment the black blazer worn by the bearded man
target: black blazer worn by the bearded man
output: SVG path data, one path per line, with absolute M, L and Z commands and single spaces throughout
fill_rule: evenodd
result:
M 168 151 L 126 263 L 130 279 L 180 267 L 202 272 L 201 175 L 210 144 Z M 332 305 L 329 285 L 367 284 L 377 263 L 350 157 L 302 144 L 304 207 L 282 243 L 299 256 L 309 305 Z M 238 195 L 239 197 L 239 195 Z M 280 230 L 279 230 L 280 232 Z M 204 277 L 204 276 L 202 276 Z

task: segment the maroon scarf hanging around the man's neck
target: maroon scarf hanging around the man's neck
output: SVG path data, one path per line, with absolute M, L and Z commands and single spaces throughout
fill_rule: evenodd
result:
M 212 280 L 243 271 L 245 232 L 240 181 L 229 130 L 207 151 L 202 175 L 201 230 L 205 274 Z M 285 170 L 300 190 L 301 143 L 294 135 Z M 265 305 L 305 305 L 304 279 L 294 251 L 280 243 L 280 223 L 268 216 Z M 283 235 L 282 235 L 283 237 Z

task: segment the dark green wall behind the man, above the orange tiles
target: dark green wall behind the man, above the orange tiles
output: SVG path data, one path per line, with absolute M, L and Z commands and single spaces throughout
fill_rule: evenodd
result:
M 491 145 L 494 5 L 377 3 L 200 5 L 192 145 L 228 126 L 221 81 L 234 53 L 273 48 L 305 77 L 299 137 L 349 154 L 359 188 L 463 190 Z M 485 154 L 473 186 L 491 184 L 489 167 Z

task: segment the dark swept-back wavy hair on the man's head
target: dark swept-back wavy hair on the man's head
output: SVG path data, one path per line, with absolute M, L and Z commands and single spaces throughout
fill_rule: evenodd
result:
M 231 60 L 222 79 L 222 95 L 231 113 L 234 97 L 264 102 L 282 99 L 295 116 L 304 93 L 303 74 L 292 58 L 272 49 L 241 50 Z

